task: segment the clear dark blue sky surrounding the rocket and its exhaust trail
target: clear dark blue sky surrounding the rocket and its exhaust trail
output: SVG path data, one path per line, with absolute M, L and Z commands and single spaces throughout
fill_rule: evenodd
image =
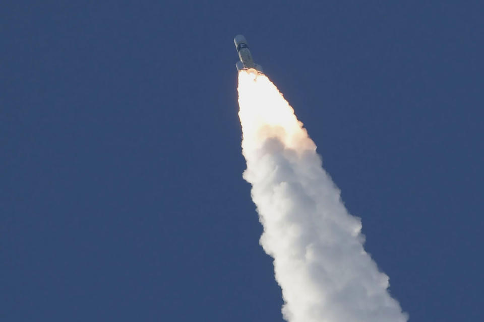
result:
M 242 33 L 410 320 L 484 320 L 483 9 L 3 2 L 0 319 L 282 320 L 241 178 Z

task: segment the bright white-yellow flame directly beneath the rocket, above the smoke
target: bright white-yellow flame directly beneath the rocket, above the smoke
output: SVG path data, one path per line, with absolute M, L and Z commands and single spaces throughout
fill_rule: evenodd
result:
M 266 75 L 255 69 L 238 73 L 238 105 L 244 142 L 250 142 L 250 147 L 276 137 L 298 151 L 316 149 L 292 107 Z

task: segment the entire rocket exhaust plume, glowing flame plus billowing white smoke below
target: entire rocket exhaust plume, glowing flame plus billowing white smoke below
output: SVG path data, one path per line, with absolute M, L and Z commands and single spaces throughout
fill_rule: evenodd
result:
M 274 258 L 282 313 L 290 322 L 404 322 L 388 276 L 363 248 L 360 219 L 348 214 L 316 145 L 265 75 L 238 76 L 244 179 L 252 184 Z

